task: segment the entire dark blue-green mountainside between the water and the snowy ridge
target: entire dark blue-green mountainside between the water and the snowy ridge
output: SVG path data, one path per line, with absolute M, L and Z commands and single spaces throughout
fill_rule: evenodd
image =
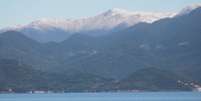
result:
M 191 90 L 201 84 L 201 8 L 109 35 L 39 43 L 0 34 L 0 89 Z M 153 68 L 154 67 L 154 68 Z

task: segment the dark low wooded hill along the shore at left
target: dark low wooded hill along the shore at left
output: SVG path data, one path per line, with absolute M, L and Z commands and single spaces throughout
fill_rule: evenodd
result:
M 15 92 L 31 90 L 101 91 L 100 88 L 108 82 L 109 79 L 81 72 L 47 73 L 34 70 L 15 60 L 1 59 L 0 62 L 1 91 L 10 88 Z

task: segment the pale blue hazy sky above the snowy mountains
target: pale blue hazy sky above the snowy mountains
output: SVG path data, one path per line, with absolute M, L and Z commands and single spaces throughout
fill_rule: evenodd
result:
M 0 0 L 0 28 L 40 18 L 80 18 L 111 8 L 177 12 L 201 0 Z

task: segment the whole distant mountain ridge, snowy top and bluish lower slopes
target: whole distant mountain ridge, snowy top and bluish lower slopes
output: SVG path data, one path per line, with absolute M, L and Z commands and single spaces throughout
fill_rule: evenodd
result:
M 132 12 L 114 8 L 93 17 L 81 19 L 44 18 L 27 25 L 8 27 L 2 29 L 2 31 L 20 31 L 26 36 L 40 42 L 61 42 L 75 33 L 100 36 L 104 35 L 104 33 L 110 33 L 115 28 L 124 29 L 139 22 L 151 23 L 174 15 L 174 13 Z

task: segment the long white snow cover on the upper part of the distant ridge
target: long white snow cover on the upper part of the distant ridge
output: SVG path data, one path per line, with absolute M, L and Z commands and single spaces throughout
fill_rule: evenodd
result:
M 82 19 L 40 19 L 22 28 L 46 30 L 58 28 L 69 32 L 112 29 L 119 24 L 128 26 L 139 22 L 153 22 L 164 17 L 171 17 L 172 13 L 131 12 L 124 9 L 110 9 L 97 16 Z

